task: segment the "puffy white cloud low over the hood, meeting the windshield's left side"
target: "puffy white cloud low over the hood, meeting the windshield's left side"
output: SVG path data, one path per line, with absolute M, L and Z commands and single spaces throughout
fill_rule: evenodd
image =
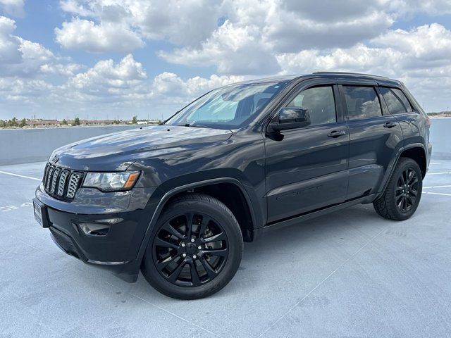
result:
M 129 54 L 118 63 L 111 59 L 99 61 L 84 73 L 70 77 L 61 89 L 68 99 L 79 101 L 183 105 L 213 88 L 242 80 L 242 76 L 225 75 L 183 80 L 168 72 L 149 80 L 142 64 Z

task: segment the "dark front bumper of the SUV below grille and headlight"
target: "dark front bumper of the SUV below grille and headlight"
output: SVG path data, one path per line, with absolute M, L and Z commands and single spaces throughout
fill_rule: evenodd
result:
M 149 196 L 152 192 L 147 193 Z M 111 198 L 114 199 L 113 194 Z M 135 282 L 140 268 L 138 251 L 153 214 L 152 205 L 130 210 L 134 205 L 130 202 L 122 211 L 116 208 L 113 213 L 91 213 L 93 206 L 82 206 L 80 197 L 77 204 L 58 201 L 41 187 L 37 188 L 33 202 L 35 218 L 49 228 L 51 238 L 61 250 L 90 265 L 107 268 L 127 282 Z M 87 234 L 83 225 L 101 225 L 105 231 Z

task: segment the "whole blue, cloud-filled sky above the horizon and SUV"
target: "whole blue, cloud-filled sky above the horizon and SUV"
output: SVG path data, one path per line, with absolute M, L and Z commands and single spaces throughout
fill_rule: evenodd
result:
M 0 119 L 161 119 L 224 84 L 326 70 L 449 110 L 451 0 L 0 0 Z

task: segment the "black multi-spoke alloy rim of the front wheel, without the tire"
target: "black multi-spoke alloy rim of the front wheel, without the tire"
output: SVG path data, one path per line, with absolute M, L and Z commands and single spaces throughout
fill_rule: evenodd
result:
M 166 280 L 198 287 L 221 272 L 228 258 L 228 239 L 208 215 L 184 213 L 161 226 L 152 251 L 156 269 Z

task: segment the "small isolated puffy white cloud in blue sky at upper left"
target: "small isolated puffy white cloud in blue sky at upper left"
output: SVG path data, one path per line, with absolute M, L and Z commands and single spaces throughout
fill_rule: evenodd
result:
M 144 46 L 142 39 L 123 24 L 100 23 L 73 18 L 63 27 L 55 28 L 56 41 L 67 49 L 82 49 L 94 53 L 132 51 Z

